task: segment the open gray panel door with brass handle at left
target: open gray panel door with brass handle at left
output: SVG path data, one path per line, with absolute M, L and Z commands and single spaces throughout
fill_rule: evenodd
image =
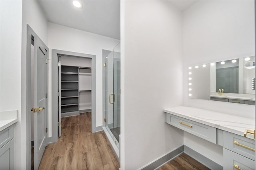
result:
M 46 147 L 46 63 L 47 47 L 34 37 L 34 170 L 38 169 Z

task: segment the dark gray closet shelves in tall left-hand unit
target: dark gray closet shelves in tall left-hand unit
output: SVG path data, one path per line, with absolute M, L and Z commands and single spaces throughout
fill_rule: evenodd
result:
M 79 114 L 79 71 L 76 66 L 61 66 L 61 114 Z

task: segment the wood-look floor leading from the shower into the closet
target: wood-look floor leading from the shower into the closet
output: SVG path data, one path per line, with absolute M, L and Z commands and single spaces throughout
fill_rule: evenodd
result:
M 118 170 L 104 132 L 91 132 L 91 113 L 61 119 L 62 136 L 49 144 L 39 170 Z

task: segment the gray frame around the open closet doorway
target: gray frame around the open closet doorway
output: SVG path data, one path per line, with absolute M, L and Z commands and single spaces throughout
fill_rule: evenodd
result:
M 58 56 L 86 57 L 92 59 L 92 133 L 101 131 L 96 127 L 96 55 L 52 49 L 52 140 L 58 141 Z

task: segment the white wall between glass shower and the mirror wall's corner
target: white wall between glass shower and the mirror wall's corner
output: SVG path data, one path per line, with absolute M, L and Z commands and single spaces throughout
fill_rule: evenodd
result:
M 183 145 L 183 131 L 164 123 L 163 113 L 182 105 L 182 14 L 169 3 L 121 2 L 123 170 L 141 168 Z

